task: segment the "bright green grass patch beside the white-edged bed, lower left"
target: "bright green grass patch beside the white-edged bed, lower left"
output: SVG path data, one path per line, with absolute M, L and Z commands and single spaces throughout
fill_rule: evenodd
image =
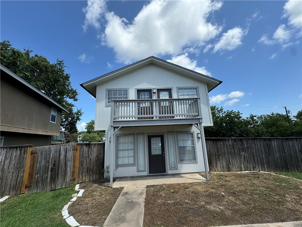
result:
M 1 227 L 68 227 L 61 210 L 66 205 L 75 186 L 57 189 L 51 192 L 15 195 L 1 203 Z

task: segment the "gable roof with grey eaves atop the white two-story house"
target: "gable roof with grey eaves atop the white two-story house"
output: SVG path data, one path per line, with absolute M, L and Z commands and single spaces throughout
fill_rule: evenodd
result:
M 137 62 L 127 65 L 123 68 L 112 71 L 110 73 L 104 74 L 100 77 L 97 77 L 95 79 L 92 79 L 92 80 L 87 81 L 80 85 L 85 90 L 87 90 L 93 97 L 96 97 L 96 86 L 97 85 L 106 83 L 106 82 L 108 82 L 112 79 L 115 79 L 117 77 L 120 77 L 122 75 L 129 74 L 130 72 L 136 71 L 136 70 L 146 67 L 148 65 L 156 65 L 156 66 L 162 67 L 164 69 L 170 70 L 172 72 L 193 78 L 194 80 L 204 82 L 207 84 L 207 89 L 209 92 L 211 90 L 213 90 L 215 87 L 217 87 L 219 84 L 222 83 L 222 81 L 217 80 L 213 77 L 206 76 L 204 74 L 195 72 L 193 70 L 190 70 L 190 69 L 181 67 L 179 65 L 173 64 L 171 62 L 162 60 L 160 58 L 151 56 L 149 58 L 145 58 L 141 61 L 137 61 Z

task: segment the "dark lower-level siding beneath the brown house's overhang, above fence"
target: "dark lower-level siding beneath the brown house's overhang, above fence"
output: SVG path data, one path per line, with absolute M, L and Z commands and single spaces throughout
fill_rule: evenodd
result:
M 20 146 L 33 144 L 34 146 L 48 146 L 51 144 L 51 136 L 16 133 L 1 131 L 0 136 L 4 137 L 2 146 Z

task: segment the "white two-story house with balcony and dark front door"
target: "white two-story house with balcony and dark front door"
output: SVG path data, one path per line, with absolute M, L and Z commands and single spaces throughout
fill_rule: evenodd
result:
M 222 81 L 149 57 L 81 86 L 96 98 L 112 176 L 207 173 L 208 92 Z

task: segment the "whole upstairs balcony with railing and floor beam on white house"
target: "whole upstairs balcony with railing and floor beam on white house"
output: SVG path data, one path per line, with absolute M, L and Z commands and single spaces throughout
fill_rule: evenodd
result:
M 112 100 L 111 126 L 199 124 L 200 98 Z

